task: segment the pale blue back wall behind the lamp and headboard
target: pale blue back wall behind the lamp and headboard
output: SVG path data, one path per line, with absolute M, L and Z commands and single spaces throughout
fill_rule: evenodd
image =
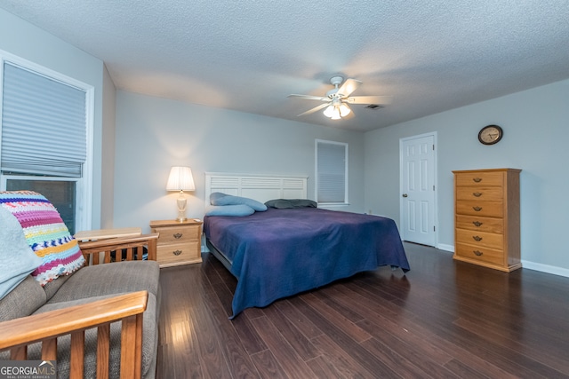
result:
M 171 166 L 190 166 L 188 217 L 204 217 L 204 172 L 307 175 L 314 199 L 315 138 L 349 143 L 349 207 L 364 209 L 364 134 L 204 107 L 125 91 L 116 94 L 114 226 L 173 219 Z

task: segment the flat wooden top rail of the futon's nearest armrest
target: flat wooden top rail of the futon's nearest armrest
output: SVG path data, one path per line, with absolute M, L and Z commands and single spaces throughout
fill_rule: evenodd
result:
M 67 335 L 146 311 L 148 291 L 0 322 L 0 350 Z

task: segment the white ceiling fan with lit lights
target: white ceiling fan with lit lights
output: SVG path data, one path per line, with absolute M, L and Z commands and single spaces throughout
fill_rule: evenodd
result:
M 313 107 L 306 112 L 299 114 L 312 114 L 320 109 L 324 109 L 324 114 L 326 117 L 330 117 L 333 120 L 340 120 L 351 113 L 349 104 L 367 104 L 367 105 L 388 105 L 391 104 L 393 99 L 391 96 L 349 96 L 353 91 L 356 91 L 357 87 L 362 83 L 356 79 L 346 79 L 341 76 L 333 76 L 330 79 L 330 83 L 333 84 L 333 90 L 327 91 L 325 97 L 311 96 L 311 95 L 288 95 L 288 98 L 300 98 L 307 100 L 319 100 L 324 101 L 317 107 Z M 341 87 L 339 85 L 341 84 Z

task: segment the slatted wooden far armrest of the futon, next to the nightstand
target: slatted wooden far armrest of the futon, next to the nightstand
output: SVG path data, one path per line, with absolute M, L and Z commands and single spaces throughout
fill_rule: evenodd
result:
M 158 241 L 159 233 L 149 233 L 149 234 L 142 234 L 139 236 L 132 236 L 132 237 L 117 237 L 117 238 L 109 238 L 105 240 L 97 240 L 97 241 L 78 241 L 79 249 L 83 253 L 84 257 L 87 259 L 89 263 L 89 255 L 93 253 L 105 253 L 104 262 L 110 262 L 110 253 L 111 251 L 120 251 L 122 249 L 127 249 L 127 260 L 132 260 L 132 249 L 133 248 L 142 248 L 143 246 L 147 246 L 148 248 L 148 260 L 156 261 L 156 246 Z M 92 261 L 93 265 L 99 264 L 99 255 L 94 254 Z M 139 257 L 140 259 L 140 257 Z

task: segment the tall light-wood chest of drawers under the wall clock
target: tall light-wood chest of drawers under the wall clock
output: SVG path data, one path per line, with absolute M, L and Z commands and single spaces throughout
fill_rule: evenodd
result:
M 505 272 L 522 266 L 520 171 L 453 171 L 454 259 Z

